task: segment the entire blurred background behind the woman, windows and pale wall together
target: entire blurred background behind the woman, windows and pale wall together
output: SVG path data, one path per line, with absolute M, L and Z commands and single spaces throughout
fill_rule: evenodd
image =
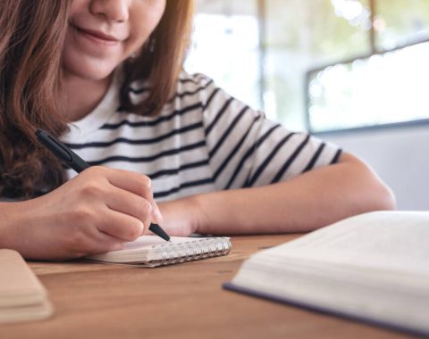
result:
M 185 69 L 429 210 L 429 0 L 197 0 Z

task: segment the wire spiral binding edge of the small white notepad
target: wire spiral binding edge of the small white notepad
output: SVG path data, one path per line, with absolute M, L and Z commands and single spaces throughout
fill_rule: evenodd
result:
M 159 246 L 163 260 L 161 265 L 217 257 L 231 252 L 231 243 L 226 238 L 201 239 L 198 242 L 162 244 Z

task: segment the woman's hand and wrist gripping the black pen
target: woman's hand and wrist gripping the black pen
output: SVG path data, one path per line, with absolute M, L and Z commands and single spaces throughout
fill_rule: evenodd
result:
M 100 166 L 49 194 L 1 203 L 0 214 L 0 248 L 34 260 L 120 250 L 162 220 L 147 176 Z

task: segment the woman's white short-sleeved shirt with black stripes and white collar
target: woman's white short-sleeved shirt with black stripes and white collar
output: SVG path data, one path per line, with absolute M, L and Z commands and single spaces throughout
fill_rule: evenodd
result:
M 91 165 L 152 179 L 158 201 L 224 189 L 265 186 L 338 160 L 335 145 L 265 119 L 201 74 L 181 72 L 175 95 L 155 117 L 124 112 L 116 76 L 97 108 L 62 136 Z M 129 88 L 134 103 L 147 83 Z M 76 175 L 66 170 L 67 178 Z

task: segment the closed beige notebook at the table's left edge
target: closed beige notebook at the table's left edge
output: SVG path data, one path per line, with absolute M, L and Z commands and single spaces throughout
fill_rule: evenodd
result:
M 0 323 L 48 318 L 46 290 L 21 255 L 0 250 Z

